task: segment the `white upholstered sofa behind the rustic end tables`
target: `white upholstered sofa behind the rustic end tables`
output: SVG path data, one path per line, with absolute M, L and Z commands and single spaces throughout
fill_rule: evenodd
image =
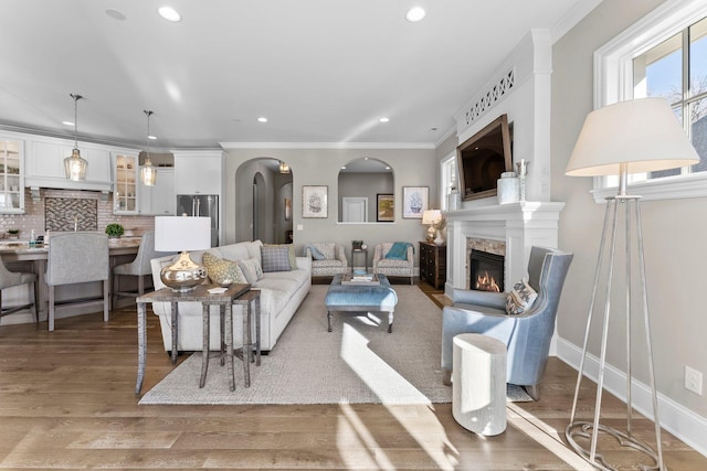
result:
M 201 263 L 205 251 L 214 256 L 231 260 L 246 260 L 255 258 L 262 266 L 261 240 L 242 242 L 209 250 L 190 253 L 194 261 Z M 152 281 L 155 289 L 165 288 L 159 272 L 173 259 L 173 256 L 154 258 L 151 260 Z M 296 257 L 296 269 L 289 271 L 271 271 L 262 275 L 262 278 L 252 283 L 252 288 L 261 291 L 261 349 L 270 351 L 277 343 L 287 323 L 293 318 L 299 304 L 309 292 L 312 286 L 312 259 Z M 156 302 L 152 311 L 159 317 L 162 331 L 162 342 L 166 351 L 171 351 L 171 308 L 168 302 Z M 180 302 L 179 311 L 179 344 L 180 351 L 202 350 L 202 309 L 200 302 Z M 241 306 L 233 306 L 233 345 L 242 345 L 243 311 Z M 210 350 L 220 347 L 219 308 L 211 307 L 210 321 Z M 255 332 L 253 327 L 253 333 Z

